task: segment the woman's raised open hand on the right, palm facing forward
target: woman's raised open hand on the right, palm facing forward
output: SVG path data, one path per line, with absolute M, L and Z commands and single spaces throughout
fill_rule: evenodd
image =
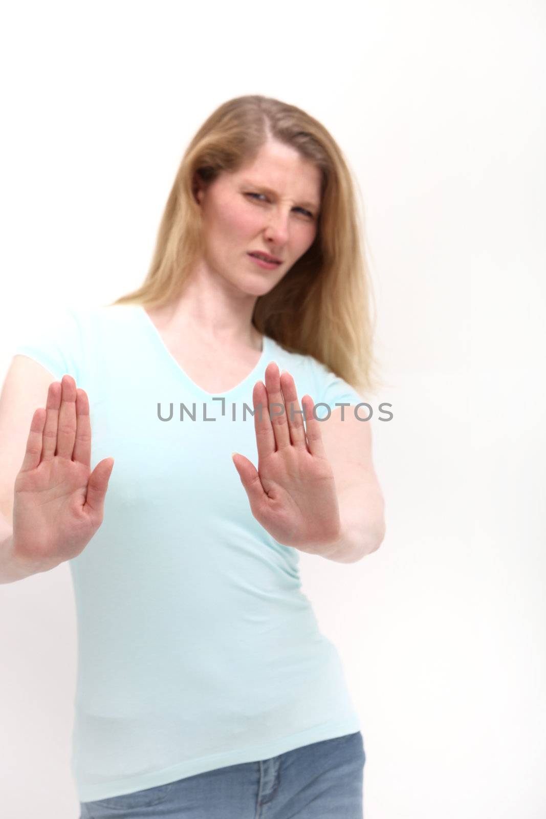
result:
M 304 426 L 294 379 L 284 371 L 281 375 L 272 361 L 265 384 L 255 383 L 252 401 L 258 469 L 244 455 L 232 455 L 252 514 L 279 543 L 319 553 L 340 537 L 341 523 L 313 399 L 302 397 Z

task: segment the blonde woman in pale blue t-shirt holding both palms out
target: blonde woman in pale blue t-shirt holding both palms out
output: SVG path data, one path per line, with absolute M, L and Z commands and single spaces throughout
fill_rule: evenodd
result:
M 355 211 L 323 125 L 232 99 L 187 147 L 142 287 L 17 348 L 47 405 L 2 579 L 70 561 L 82 819 L 362 816 L 359 717 L 298 573 L 385 530 L 351 386 L 372 385 Z

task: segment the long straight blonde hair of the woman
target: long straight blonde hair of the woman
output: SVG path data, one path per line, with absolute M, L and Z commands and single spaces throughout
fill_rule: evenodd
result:
M 327 129 L 271 97 L 235 97 L 197 131 L 179 165 L 140 287 L 112 305 L 157 308 L 175 301 L 203 256 L 195 174 L 205 182 L 252 161 L 268 139 L 294 147 L 322 172 L 317 235 L 273 289 L 256 300 L 252 323 L 287 351 L 312 355 L 358 391 L 374 391 L 372 286 L 350 169 Z

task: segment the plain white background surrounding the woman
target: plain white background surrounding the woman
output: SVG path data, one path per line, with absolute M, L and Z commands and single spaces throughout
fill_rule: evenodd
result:
M 36 316 L 141 283 L 221 102 L 278 97 L 336 138 L 390 385 L 372 404 L 395 414 L 372 422 L 388 528 L 359 563 L 301 572 L 362 718 L 364 816 L 544 817 L 544 2 L 2 17 L 2 378 Z M 67 564 L 0 586 L 7 819 L 79 817 L 74 618 Z

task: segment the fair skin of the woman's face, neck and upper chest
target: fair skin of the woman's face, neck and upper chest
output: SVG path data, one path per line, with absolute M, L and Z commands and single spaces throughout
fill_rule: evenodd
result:
M 277 192 L 274 202 L 260 183 Z M 196 179 L 196 188 L 207 255 L 183 296 L 148 314 L 184 372 L 213 393 L 241 382 L 259 359 L 262 339 L 251 324 L 255 301 L 313 244 L 320 175 L 291 147 L 273 142 L 237 173 L 221 174 L 208 187 Z M 307 201 L 316 206 L 313 219 L 300 208 Z M 282 265 L 263 269 L 248 251 L 266 251 Z

